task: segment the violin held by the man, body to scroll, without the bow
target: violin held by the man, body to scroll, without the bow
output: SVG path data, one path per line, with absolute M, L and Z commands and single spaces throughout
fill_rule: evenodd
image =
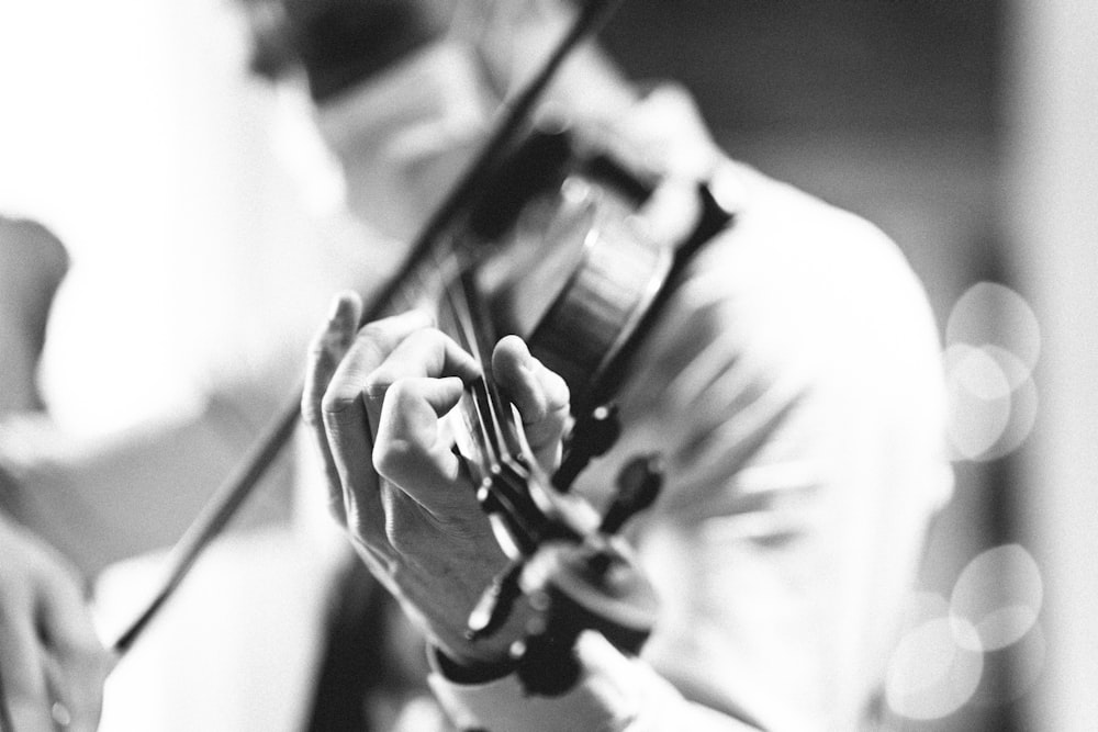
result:
M 608 399 L 675 275 L 729 221 L 699 187 L 702 213 L 690 236 L 676 248 L 649 241 L 629 222 L 656 184 L 585 149 L 567 129 L 535 132 L 471 206 L 460 227 L 468 263 L 444 288 L 440 326 L 485 374 L 460 405 L 471 438 L 461 453 L 511 559 L 473 609 L 467 634 L 491 634 L 516 598 L 526 597 L 535 617 L 513 655 L 533 694 L 562 692 L 574 683 L 571 649 L 583 630 L 637 653 L 656 618 L 652 589 L 614 534 L 656 499 L 659 457 L 636 455 L 623 469 L 601 517 L 569 495 L 617 436 Z M 572 394 L 575 426 L 551 476 L 539 471 L 520 420 L 493 384 L 491 348 L 509 334 L 522 336 Z

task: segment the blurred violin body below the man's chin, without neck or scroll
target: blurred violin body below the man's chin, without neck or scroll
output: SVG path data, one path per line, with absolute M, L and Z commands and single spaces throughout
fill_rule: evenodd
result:
M 666 283 L 674 249 L 632 224 L 652 185 L 569 131 L 535 132 L 473 207 L 475 286 L 496 336 L 518 335 L 569 386 L 573 413 Z

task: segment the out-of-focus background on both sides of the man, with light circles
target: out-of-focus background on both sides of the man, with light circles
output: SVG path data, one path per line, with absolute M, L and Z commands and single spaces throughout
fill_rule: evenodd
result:
M 956 488 L 889 664 L 896 727 L 1093 729 L 1098 3 L 630 0 L 605 37 L 926 283 Z M 298 337 L 267 320 L 323 311 L 300 278 L 330 266 L 338 182 L 300 93 L 245 66 L 228 0 L 0 9 L 0 211 L 74 256 L 45 379 L 75 430 L 193 408 Z

